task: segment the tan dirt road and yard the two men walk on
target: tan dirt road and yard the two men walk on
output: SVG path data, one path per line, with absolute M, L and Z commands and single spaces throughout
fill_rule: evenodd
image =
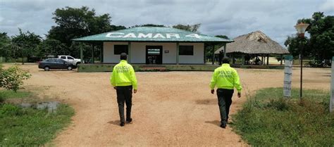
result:
M 216 94 L 210 94 L 208 86 L 211 72 L 137 72 L 134 123 L 119 127 L 110 73 L 21 67 L 32 73 L 26 89 L 39 89 L 42 95 L 75 108 L 73 124 L 58 134 L 56 146 L 247 146 L 230 127 L 219 127 Z M 283 87 L 283 70 L 237 72 L 245 89 L 242 98 L 233 96 L 232 114 L 241 108 L 246 94 L 264 87 Z M 292 82 L 293 87 L 299 86 L 299 69 L 293 70 Z M 304 69 L 304 88 L 329 90 L 330 69 Z

